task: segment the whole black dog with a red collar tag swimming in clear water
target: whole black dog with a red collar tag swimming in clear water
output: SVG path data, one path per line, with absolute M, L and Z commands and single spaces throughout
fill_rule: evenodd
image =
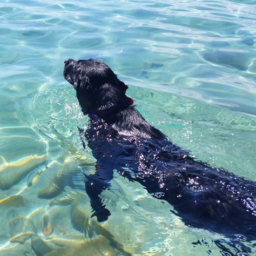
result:
M 85 175 L 85 189 L 99 221 L 110 215 L 99 198 L 110 187 L 113 170 L 138 181 L 153 197 L 169 202 L 186 225 L 227 237 L 256 237 L 256 186 L 225 170 L 193 160 L 152 127 L 125 95 L 127 85 L 109 66 L 65 60 L 64 77 L 76 89 L 89 129 L 80 131 L 93 156 L 96 173 Z

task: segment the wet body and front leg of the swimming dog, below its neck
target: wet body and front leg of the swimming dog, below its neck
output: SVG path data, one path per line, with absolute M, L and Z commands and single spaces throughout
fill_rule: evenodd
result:
M 127 111 L 134 117 L 136 110 L 126 109 L 125 118 L 129 118 Z M 149 124 L 150 127 L 141 129 L 142 133 L 138 132 L 138 127 L 145 125 L 144 119 L 139 125 L 135 118 L 135 127 L 130 119 L 126 128 L 124 119 L 111 115 L 106 119 L 107 122 L 92 117 L 90 129 L 85 134 L 97 159 L 96 176 L 101 180 L 97 183 L 101 187 L 99 193 L 110 186 L 112 171 L 117 170 L 129 180 L 141 183 L 153 197 L 168 201 L 173 212 L 188 226 L 228 237 L 243 234 L 247 239 L 255 238 L 256 188 L 253 181 L 195 161 L 187 151 L 172 144 Z M 87 179 L 88 187 L 92 179 Z M 109 213 L 99 207 L 100 199 L 95 189 L 93 191 L 88 190 L 91 200 L 98 201 L 95 215 L 99 220 L 105 220 Z

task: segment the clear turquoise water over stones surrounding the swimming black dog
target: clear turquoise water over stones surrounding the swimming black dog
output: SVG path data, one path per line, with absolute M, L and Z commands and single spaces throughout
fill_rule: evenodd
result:
M 256 180 L 255 4 L 2 0 L 0 255 L 221 255 L 220 235 L 185 226 L 118 174 L 102 194 L 110 219 L 89 218 L 80 170 L 95 160 L 62 70 L 66 58 L 103 60 L 174 143 Z

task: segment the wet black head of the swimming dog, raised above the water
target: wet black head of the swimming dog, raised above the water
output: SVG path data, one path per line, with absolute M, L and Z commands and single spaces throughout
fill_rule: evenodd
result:
M 106 64 L 95 59 L 66 59 L 64 78 L 73 85 L 84 113 L 104 116 L 132 104 L 128 88 Z

